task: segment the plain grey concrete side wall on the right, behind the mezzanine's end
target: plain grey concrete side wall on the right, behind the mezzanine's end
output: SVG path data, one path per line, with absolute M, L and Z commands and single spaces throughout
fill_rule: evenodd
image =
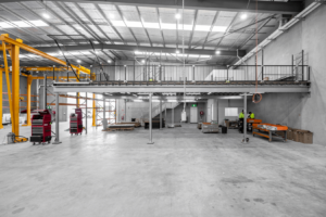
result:
M 263 122 L 286 123 L 289 127 L 311 130 L 314 143 L 325 144 L 326 130 L 326 5 L 293 26 L 264 49 L 265 64 L 290 64 L 291 54 L 304 50 L 311 66 L 311 95 L 268 93 L 259 104 L 249 103 Z M 254 60 L 249 62 L 253 63 Z

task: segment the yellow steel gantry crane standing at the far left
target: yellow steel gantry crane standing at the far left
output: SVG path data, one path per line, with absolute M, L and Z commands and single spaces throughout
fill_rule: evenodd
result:
M 61 68 L 64 68 L 65 71 L 67 69 L 66 65 L 67 63 L 63 60 L 57 59 L 52 55 L 49 55 L 42 51 L 39 51 L 33 47 L 29 47 L 25 43 L 23 43 L 22 39 L 12 39 L 9 37 L 8 34 L 2 34 L 0 36 L 0 41 L 2 44 L 0 46 L 0 51 L 2 50 L 3 52 L 3 62 L 4 62 L 4 68 L 1 68 L 1 91 L 2 91 L 2 71 L 5 72 L 5 79 L 7 79 L 7 87 L 8 87 L 8 97 L 9 97 L 9 105 L 10 105 L 10 114 L 11 114 L 11 120 L 12 120 L 12 132 L 15 136 L 20 136 L 20 50 L 23 49 L 25 51 L 28 51 L 30 53 L 34 53 L 36 55 L 40 55 L 45 59 L 48 59 L 50 61 L 53 61 L 54 63 L 58 63 L 60 65 L 65 66 L 64 67 L 59 67 L 57 71 L 60 71 Z M 12 62 L 12 82 L 10 85 L 10 78 L 9 78 L 9 65 L 8 65 L 8 58 L 7 58 L 7 52 L 9 52 L 11 62 Z M 74 68 L 77 72 L 77 75 L 79 77 L 80 73 L 88 74 L 90 75 L 90 71 L 86 67 L 83 66 L 75 66 L 75 65 L 70 65 L 71 68 Z M 29 69 L 33 71 L 30 67 Z M 51 68 L 51 67 L 50 67 Z M 43 68 L 45 69 L 45 68 Z M 51 68 L 51 71 L 53 67 Z M 40 71 L 40 68 L 38 68 Z M 55 71 L 55 69 L 54 69 Z M 42 79 L 43 77 L 33 77 L 32 75 L 26 75 L 27 76 L 27 125 L 30 126 L 30 86 L 34 79 Z M 11 91 L 11 86 L 12 86 L 12 91 Z M 0 122 L 0 128 L 2 127 L 2 94 L 1 94 L 1 106 L 0 106 L 0 112 L 1 112 L 1 122 Z M 78 104 L 78 102 L 77 102 Z M 20 138 L 16 137 L 16 142 L 23 142 L 26 141 L 26 138 Z

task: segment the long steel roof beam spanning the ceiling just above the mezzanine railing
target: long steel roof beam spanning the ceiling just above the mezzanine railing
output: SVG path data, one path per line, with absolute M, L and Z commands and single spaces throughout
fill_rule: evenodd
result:
M 145 47 L 145 46 L 124 46 L 124 44 L 93 44 L 96 50 L 118 50 L 118 51 L 140 51 L 140 52 L 163 52 L 175 53 L 175 48 L 160 48 L 160 47 Z M 37 47 L 38 50 L 43 52 L 59 52 L 59 48 L 55 47 Z M 92 50 L 90 44 L 85 46 L 65 46 L 62 47 L 63 51 L 83 51 Z M 215 55 L 215 50 L 202 50 L 202 49 L 185 49 L 185 54 L 199 54 L 199 55 Z M 220 55 L 237 56 L 236 50 L 221 50 Z M 239 50 L 239 55 L 246 55 L 244 50 Z

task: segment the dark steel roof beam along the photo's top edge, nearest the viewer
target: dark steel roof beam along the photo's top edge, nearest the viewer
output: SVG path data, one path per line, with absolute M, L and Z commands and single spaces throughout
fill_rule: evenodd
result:
M 35 0 L 0 0 L 4 2 L 27 2 Z M 52 0 L 54 2 L 77 2 L 77 3 L 109 3 L 120 5 L 138 5 L 138 7 L 154 7 L 154 8 L 174 8 L 181 9 L 181 1 L 175 0 Z M 247 7 L 248 5 L 248 7 Z M 216 10 L 216 11 L 239 11 L 239 12 L 256 12 L 255 1 L 248 4 L 248 1 L 240 0 L 218 0 L 218 1 L 198 1 L 187 0 L 185 9 L 197 10 Z M 259 1 L 259 13 L 277 13 L 277 14 L 297 14 L 303 9 L 301 1 Z

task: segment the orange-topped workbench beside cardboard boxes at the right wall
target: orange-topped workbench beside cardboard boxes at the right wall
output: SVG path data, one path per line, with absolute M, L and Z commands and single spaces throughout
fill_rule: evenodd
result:
M 252 125 L 252 136 L 254 137 L 255 135 L 265 137 L 268 139 L 268 142 L 272 142 L 273 137 L 275 138 L 280 138 L 283 139 L 283 142 L 287 141 L 287 126 L 281 126 L 281 125 L 273 125 L 273 124 L 253 124 Z M 277 131 L 283 131 L 285 137 L 280 137 L 277 135 Z

